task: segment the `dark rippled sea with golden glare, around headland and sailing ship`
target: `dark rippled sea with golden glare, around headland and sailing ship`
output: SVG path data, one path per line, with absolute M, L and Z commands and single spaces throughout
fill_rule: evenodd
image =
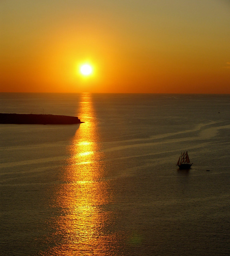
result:
M 0 112 L 84 122 L 0 124 L 1 256 L 230 255 L 230 94 L 1 93 Z

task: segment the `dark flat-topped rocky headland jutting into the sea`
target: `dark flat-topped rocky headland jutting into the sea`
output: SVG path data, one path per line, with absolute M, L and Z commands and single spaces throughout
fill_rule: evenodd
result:
M 0 124 L 81 124 L 76 116 L 50 114 L 2 114 Z

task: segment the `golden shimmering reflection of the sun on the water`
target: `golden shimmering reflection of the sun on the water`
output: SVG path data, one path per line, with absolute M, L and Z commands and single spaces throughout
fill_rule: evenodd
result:
M 111 234 L 105 228 L 110 213 L 106 210 L 109 196 L 103 179 L 103 154 L 98 146 L 93 105 L 87 95 L 77 114 L 85 123 L 77 129 L 69 146 L 64 184 L 58 192 L 62 213 L 56 235 L 61 245 L 53 248 L 54 255 L 108 255 L 111 247 Z

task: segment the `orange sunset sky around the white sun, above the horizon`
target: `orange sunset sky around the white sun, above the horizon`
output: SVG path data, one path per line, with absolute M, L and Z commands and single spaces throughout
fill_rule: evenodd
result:
M 0 24 L 1 92 L 230 93 L 230 0 L 1 0 Z

